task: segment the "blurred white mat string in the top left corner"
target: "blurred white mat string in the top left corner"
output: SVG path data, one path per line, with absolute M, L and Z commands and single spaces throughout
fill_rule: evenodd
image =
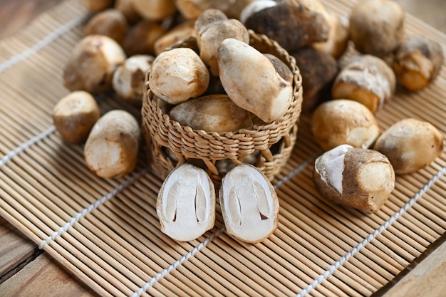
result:
M 56 28 L 56 30 L 52 31 L 47 36 L 42 38 L 40 41 L 38 41 L 36 44 L 34 44 L 31 48 L 28 48 L 28 49 L 26 49 L 26 51 L 22 51 L 21 53 L 15 55 L 15 56 L 12 56 L 8 60 L 4 61 L 3 63 L 0 63 L 0 73 L 3 73 L 4 71 L 6 71 L 6 69 L 10 68 L 11 66 L 16 65 L 16 63 L 26 60 L 28 57 L 37 53 L 42 48 L 44 48 L 45 46 L 48 46 L 48 44 L 55 41 L 58 37 L 62 36 L 63 33 L 71 31 L 73 28 L 76 28 L 77 26 L 81 25 L 87 18 L 88 18 L 88 15 L 83 15 L 83 16 L 78 16 L 76 19 L 72 19 L 71 21 L 68 21 L 68 23 L 63 24 L 62 26 Z

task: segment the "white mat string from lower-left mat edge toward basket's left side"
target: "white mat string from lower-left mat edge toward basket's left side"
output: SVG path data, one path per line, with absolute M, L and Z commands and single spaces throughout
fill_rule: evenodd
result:
M 133 182 L 142 177 L 145 172 L 147 172 L 147 168 L 133 175 L 133 177 L 130 177 L 130 179 L 126 180 L 122 184 L 119 184 L 118 187 L 115 187 L 115 189 L 108 192 L 103 197 L 100 197 L 100 199 L 88 205 L 88 207 L 82 209 L 81 212 L 76 213 L 73 217 L 71 217 L 70 221 L 66 222 L 66 224 L 61 226 L 61 228 L 59 228 L 57 231 L 54 231 L 50 236 L 46 237 L 46 239 L 43 239 L 38 245 L 38 248 L 43 249 L 43 246 L 45 246 L 46 244 L 50 244 L 51 241 L 54 241 L 58 236 L 61 236 L 63 232 L 66 232 L 68 229 L 70 229 L 71 226 L 79 222 L 79 220 L 81 220 L 87 214 L 90 214 L 90 212 L 93 212 L 94 209 L 97 209 L 98 207 L 100 207 L 100 205 L 115 197 L 119 192 L 123 191 L 123 189 L 130 186 L 130 184 L 133 184 Z

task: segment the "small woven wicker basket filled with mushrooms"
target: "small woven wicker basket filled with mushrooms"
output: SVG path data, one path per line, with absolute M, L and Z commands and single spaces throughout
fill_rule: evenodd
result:
M 184 162 L 197 162 L 207 170 L 218 187 L 226 172 L 222 167 L 228 168 L 228 160 L 232 161 L 229 164 L 237 165 L 250 159 L 251 164 L 271 180 L 289 159 L 296 142 L 301 113 L 301 74 L 294 58 L 275 41 L 253 31 L 249 31 L 249 34 L 251 46 L 262 53 L 272 53 L 281 58 L 293 72 L 294 95 L 286 114 L 272 123 L 254 125 L 251 130 L 224 133 L 192 130 L 162 113 L 146 80 L 142 100 L 142 131 L 150 148 L 150 162 L 160 177 L 167 177 Z

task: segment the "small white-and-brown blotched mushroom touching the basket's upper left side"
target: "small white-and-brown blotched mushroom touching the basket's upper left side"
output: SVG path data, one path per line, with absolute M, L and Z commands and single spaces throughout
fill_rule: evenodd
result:
M 113 90 L 131 105 L 142 105 L 142 90 L 145 75 L 155 57 L 150 55 L 135 55 L 127 58 L 120 64 L 113 74 Z

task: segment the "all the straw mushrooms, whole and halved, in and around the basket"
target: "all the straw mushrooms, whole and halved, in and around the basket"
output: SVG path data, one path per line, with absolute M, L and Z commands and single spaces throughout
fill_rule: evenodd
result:
M 146 77 L 163 113 L 195 130 L 231 132 L 280 119 L 292 98 L 293 74 L 276 56 L 249 45 L 249 30 L 296 60 L 302 110 L 325 151 L 313 172 L 323 197 L 377 212 L 395 187 L 395 173 L 418 170 L 442 152 L 443 136 L 429 123 L 405 120 L 381 132 L 374 118 L 398 84 L 425 88 L 443 61 L 435 41 L 404 36 L 405 12 L 394 1 L 360 1 L 349 16 L 319 0 L 85 4 L 93 15 L 63 71 L 71 93 L 54 108 L 53 122 L 63 140 L 85 144 L 85 163 L 100 177 L 134 169 L 141 131 L 138 117 L 124 109 L 101 116 L 93 96 L 113 93 L 140 108 Z M 234 238 L 256 243 L 277 228 L 276 193 L 256 167 L 229 168 L 215 189 L 202 168 L 187 163 L 162 184 L 160 228 L 172 239 L 196 239 L 214 226 L 217 196 Z

